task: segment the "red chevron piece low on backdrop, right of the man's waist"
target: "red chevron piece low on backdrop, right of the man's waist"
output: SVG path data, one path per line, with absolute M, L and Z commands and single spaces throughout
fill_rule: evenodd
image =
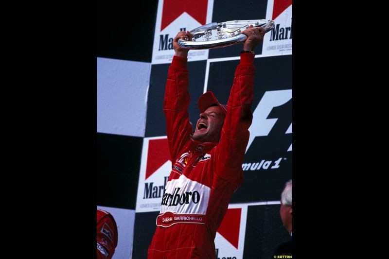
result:
M 216 232 L 238 249 L 242 208 L 229 208 Z

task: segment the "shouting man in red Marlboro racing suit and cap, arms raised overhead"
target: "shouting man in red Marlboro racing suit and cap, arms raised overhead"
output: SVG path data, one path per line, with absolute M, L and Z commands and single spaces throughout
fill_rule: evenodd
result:
M 226 105 L 212 92 L 200 96 L 200 119 L 193 133 L 189 121 L 187 55 L 178 39 L 169 67 L 163 111 L 172 156 L 172 171 L 161 201 L 148 259 L 215 259 L 214 239 L 233 192 L 243 181 L 242 162 L 252 122 L 255 67 L 253 49 L 265 31 L 250 26 Z

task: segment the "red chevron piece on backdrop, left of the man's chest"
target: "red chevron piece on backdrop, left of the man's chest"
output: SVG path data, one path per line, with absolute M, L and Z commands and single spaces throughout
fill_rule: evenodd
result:
M 157 171 L 166 161 L 171 161 L 167 138 L 150 139 L 145 179 Z

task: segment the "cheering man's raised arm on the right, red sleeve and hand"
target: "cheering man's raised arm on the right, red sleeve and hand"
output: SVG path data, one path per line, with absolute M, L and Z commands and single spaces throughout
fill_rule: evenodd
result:
M 224 179 L 233 177 L 236 168 L 242 167 L 243 157 L 248 144 L 248 128 L 252 122 L 251 104 L 254 98 L 254 61 L 255 47 L 263 40 L 265 30 L 252 25 L 242 34 L 248 36 L 240 55 L 240 64 L 235 70 L 234 82 L 227 103 L 227 115 L 224 121 L 216 173 Z

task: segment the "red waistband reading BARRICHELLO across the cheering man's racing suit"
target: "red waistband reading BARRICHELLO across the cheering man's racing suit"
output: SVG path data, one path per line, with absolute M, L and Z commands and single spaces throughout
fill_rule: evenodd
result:
M 206 215 L 204 214 L 177 214 L 167 211 L 157 217 L 157 225 L 169 227 L 174 224 L 205 224 Z

